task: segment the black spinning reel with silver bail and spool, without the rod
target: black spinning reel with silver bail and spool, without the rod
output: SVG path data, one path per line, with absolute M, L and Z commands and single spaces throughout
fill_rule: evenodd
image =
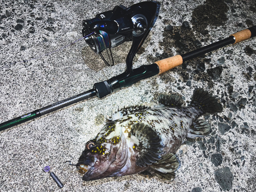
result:
M 85 38 L 87 44 L 108 66 L 114 65 L 111 48 L 125 41 L 133 41 L 126 58 L 127 69 L 131 70 L 133 58 L 153 25 L 156 11 L 157 4 L 154 2 L 141 2 L 129 8 L 116 6 L 112 11 L 105 11 L 97 14 L 95 18 L 83 20 L 82 34 L 91 34 Z M 103 50 L 107 51 L 112 63 L 103 57 Z

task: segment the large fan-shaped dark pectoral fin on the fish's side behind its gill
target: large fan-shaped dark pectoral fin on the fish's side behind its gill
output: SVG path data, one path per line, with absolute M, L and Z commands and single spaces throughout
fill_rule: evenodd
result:
M 136 156 L 136 165 L 144 167 L 156 163 L 162 152 L 161 138 L 147 124 L 136 123 L 131 129 L 131 142 Z

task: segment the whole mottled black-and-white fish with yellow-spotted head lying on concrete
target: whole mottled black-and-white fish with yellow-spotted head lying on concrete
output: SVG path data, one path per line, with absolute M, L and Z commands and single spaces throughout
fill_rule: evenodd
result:
M 174 178 L 178 167 L 174 153 L 187 137 L 202 137 L 210 129 L 198 117 L 221 112 L 222 106 L 202 89 L 194 91 L 189 106 L 174 95 L 161 96 L 159 102 L 119 109 L 112 115 L 79 158 L 83 180 L 144 170 L 162 179 Z

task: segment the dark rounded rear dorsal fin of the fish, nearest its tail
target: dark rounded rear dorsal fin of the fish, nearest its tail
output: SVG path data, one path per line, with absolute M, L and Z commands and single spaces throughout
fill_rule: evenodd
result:
M 160 95 L 158 101 L 165 106 L 185 106 L 185 101 L 179 95 Z

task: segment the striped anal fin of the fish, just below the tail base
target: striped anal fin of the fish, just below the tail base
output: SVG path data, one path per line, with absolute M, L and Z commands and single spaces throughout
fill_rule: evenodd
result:
M 210 124 L 204 119 L 197 119 L 188 129 L 187 137 L 195 139 L 197 137 L 203 137 L 210 131 Z

